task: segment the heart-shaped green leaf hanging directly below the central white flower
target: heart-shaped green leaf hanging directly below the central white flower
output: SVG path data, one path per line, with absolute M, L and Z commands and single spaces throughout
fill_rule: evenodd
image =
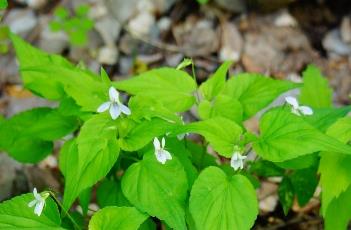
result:
M 187 190 L 184 168 L 175 156 L 163 165 L 149 152 L 142 161 L 131 165 L 122 178 L 122 191 L 127 199 L 173 229 L 186 229 Z

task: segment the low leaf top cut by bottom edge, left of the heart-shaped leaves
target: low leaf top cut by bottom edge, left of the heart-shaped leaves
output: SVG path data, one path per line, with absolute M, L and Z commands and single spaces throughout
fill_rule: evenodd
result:
M 137 230 L 148 218 L 134 207 L 106 207 L 96 212 L 89 222 L 90 230 Z

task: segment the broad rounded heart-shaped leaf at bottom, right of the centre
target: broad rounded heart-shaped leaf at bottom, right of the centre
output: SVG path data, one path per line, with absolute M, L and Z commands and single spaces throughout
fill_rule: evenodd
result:
M 250 229 L 258 214 L 256 192 L 242 175 L 227 175 L 217 167 L 204 169 L 189 200 L 197 229 Z

